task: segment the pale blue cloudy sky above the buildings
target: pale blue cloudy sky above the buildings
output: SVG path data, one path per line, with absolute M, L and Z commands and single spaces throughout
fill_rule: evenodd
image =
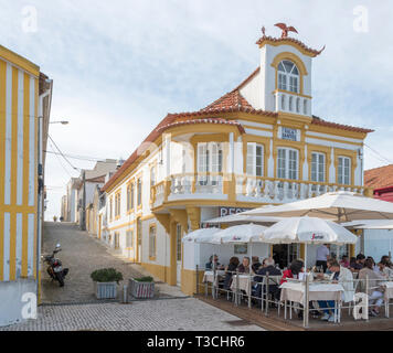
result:
M 261 28 L 325 52 L 312 63 L 312 114 L 372 128 L 365 169 L 393 163 L 390 0 L 0 0 L 0 44 L 54 82 L 50 136 L 72 156 L 127 159 L 168 113 L 205 107 L 258 65 Z M 47 149 L 54 150 L 49 145 Z M 391 162 L 392 160 L 392 162 Z M 70 159 L 76 168 L 93 161 Z M 46 160 L 46 220 L 71 176 Z

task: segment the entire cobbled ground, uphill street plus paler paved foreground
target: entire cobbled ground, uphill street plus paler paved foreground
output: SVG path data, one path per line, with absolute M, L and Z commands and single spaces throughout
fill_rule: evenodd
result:
M 43 274 L 44 304 L 38 320 L 29 320 L 0 331 L 263 331 L 195 298 L 179 288 L 158 284 L 160 299 L 149 301 L 99 302 L 93 295 L 91 272 L 115 267 L 125 279 L 147 275 L 140 266 L 114 256 L 113 252 L 75 225 L 46 223 L 44 250 L 61 243 L 59 257 L 70 267 L 65 287 L 60 288 Z M 183 297 L 183 298 L 179 298 Z

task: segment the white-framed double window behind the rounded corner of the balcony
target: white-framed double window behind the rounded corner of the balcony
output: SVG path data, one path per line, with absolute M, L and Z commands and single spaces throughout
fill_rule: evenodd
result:
M 219 142 L 198 143 L 198 172 L 199 184 L 206 185 L 209 180 L 212 184 L 217 181 L 217 175 L 209 175 L 209 173 L 221 173 L 223 169 L 223 149 Z

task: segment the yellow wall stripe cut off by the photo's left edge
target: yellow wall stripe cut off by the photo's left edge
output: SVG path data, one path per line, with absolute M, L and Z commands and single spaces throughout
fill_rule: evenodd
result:
M 0 205 L 4 202 L 7 64 L 0 61 Z M 0 212 L 0 281 L 3 280 L 4 214 Z

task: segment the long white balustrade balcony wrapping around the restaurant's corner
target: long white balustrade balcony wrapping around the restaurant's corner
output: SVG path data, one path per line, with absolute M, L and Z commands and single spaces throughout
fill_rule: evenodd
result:
M 334 191 L 372 195 L 371 189 L 357 185 L 225 173 L 184 173 L 170 175 L 152 186 L 150 206 L 156 208 L 181 200 L 195 200 L 197 203 L 198 200 L 227 201 L 230 195 L 234 195 L 237 202 L 282 204 Z

